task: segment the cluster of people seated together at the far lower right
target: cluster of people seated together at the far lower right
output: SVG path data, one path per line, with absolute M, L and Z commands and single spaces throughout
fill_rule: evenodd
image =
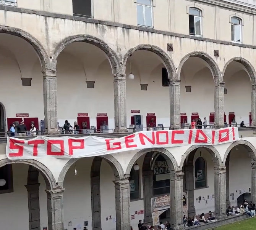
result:
M 243 204 L 241 206 L 237 206 L 236 209 L 234 206 L 232 206 L 232 208 L 230 206 L 227 208 L 227 216 L 230 216 L 232 214 L 248 214 L 249 217 L 254 217 L 256 216 L 255 204 L 253 204 L 252 202 L 248 203 L 245 199 L 243 201 Z

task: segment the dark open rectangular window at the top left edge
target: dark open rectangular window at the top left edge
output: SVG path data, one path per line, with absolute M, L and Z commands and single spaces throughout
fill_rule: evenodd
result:
M 92 0 L 72 0 L 73 16 L 92 18 Z

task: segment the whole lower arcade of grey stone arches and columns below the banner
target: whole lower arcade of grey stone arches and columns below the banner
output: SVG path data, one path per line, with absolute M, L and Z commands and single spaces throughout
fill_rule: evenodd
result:
M 143 181 L 143 200 L 144 200 L 144 222 L 152 224 L 152 210 L 151 198 L 153 195 L 153 176 L 154 169 L 152 168 L 157 156 L 161 155 L 169 166 L 170 178 L 170 223 L 173 229 L 182 228 L 183 218 L 183 192 L 188 192 L 188 216 L 195 216 L 194 205 L 194 158 L 196 151 L 199 149 L 206 150 L 212 158 L 212 165 L 214 166 L 214 207 L 215 216 L 217 219 L 223 220 L 227 218 L 226 208 L 230 204 L 229 197 L 229 157 L 232 150 L 237 147 L 244 147 L 251 158 L 251 196 L 252 202 L 256 202 L 256 149 L 248 141 L 240 140 L 233 142 L 226 150 L 224 157 L 211 145 L 209 146 L 191 146 L 182 155 L 180 165 L 173 157 L 172 153 L 166 149 L 144 149 L 139 151 L 130 160 L 126 171 L 123 171 L 120 163 L 112 156 L 105 155 L 101 157 L 94 157 L 91 166 L 91 207 L 92 207 L 92 229 L 102 229 L 100 213 L 100 165 L 102 159 L 107 161 L 111 168 L 115 179 L 113 180 L 115 186 L 115 206 L 116 206 L 116 227 L 117 230 L 130 229 L 130 182 L 129 176 L 131 169 L 136 161 L 143 157 L 142 167 L 142 181 Z M 205 154 L 205 153 L 203 153 Z M 200 151 L 201 155 L 201 151 Z M 22 163 L 29 165 L 28 182 L 26 188 L 28 191 L 28 203 L 34 202 L 31 200 L 36 198 L 39 202 L 39 172 L 45 179 L 47 192 L 47 210 L 48 222 L 50 230 L 63 230 L 63 193 L 65 187 L 63 182 L 68 169 L 78 159 L 71 159 L 63 167 L 58 181 L 52 175 L 52 172 L 40 162 L 36 160 L 15 160 L 7 159 L 0 160 L 0 167 L 6 164 Z M 184 180 L 184 181 L 183 181 Z M 183 187 L 186 188 L 183 188 Z M 31 196 L 31 194 L 33 196 Z M 36 197 L 35 197 L 36 195 Z M 38 199 L 37 199 L 38 198 Z M 29 207 L 31 207 L 29 205 Z M 39 203 L 38 203 L 39 207 Z M 29 209 L 30 212 L 37 210 Z M 39 212 L 39 210 L 38 210 Z M 34 224 L 29 219 L 29 224 Z M 40 226 L 40 219 L 39 219 Z

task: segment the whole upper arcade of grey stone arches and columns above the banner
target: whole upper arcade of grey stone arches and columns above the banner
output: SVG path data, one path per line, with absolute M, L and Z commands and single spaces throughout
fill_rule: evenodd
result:
M 45 129 L 46 133 L 57 134 L 57 59 L 59 54 L 71 43 L 85 42 L 97 46 L 104 51 L 109 60 L 113 79 L 114 79 L 114 109 L 115 109 L 115 131 L 127 131 L 127 111 L 126 111 L 126 62 L 131 54 L 138 50 L 147 50 L 156 53 L 162 60 L 170 80 L 170 126 L 173 129 L 180 128 L 180 75 L 184 63 L 190 57 L 198 57 L 206 62 L 207 67 L 215 82 L 215 125 L 216 127 L 224 126 L 224 81 L 223 76 L 225 70 L 231 62 L 240 62 L 246 69 L 252 86 L 251 100 L 251 117 L 252 124 L 256 125 L 256 73 L 253 65 L 244 58 L 232 58 L 224 66 L 223 71 L 219 69 L 216 61 L 207 53 L 194 51 L 188 53 L 181 59 L 180 64 L 175 67 L 169 54 L 164 50 L 154 45 L 138 45 L 128 50 L 123 56 L 115 53 L 110 46 L 99 38 L 91 35 L 75 35 L 65 38 L 60 42 L 52 54 L 47 53 L 40 42 L 27 32 L 14 27 L 2 26 L 1 33 L 16 35 L 29 42 L 36 51 L 42 67 L 43 73 L 43 90 L 44 90 L 44 114 L 45 114 Z M 55 98 L 55 100 L 51 100 Z

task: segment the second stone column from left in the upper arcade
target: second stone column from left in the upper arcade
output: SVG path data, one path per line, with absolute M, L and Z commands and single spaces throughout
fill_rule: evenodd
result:
M 115 132 L 127 132 L 126 75 L 114 75 Z

